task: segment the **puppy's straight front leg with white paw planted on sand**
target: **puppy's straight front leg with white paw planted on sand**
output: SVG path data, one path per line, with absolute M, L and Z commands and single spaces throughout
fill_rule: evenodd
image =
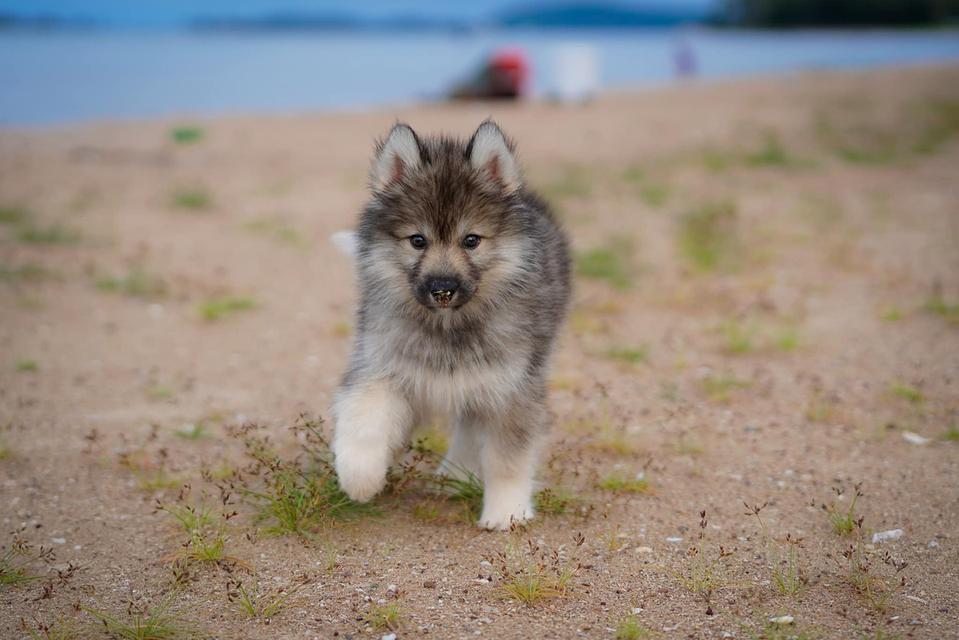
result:
M 533 517 L 533 475 L 544 438 L 545 409 L 536 404 L 512 411 L 505 425 L 483 438 L 483 513 L 479 526 L 509 529 Z

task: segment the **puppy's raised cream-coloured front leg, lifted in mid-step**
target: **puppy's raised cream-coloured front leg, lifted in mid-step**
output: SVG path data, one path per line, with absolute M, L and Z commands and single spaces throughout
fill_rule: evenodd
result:
M 413 422 L 409 402 L 385 380 L 357 382 L 337 393 L 333 453 L 340 486 L 366 502 L 386 484 L 386 472 Z

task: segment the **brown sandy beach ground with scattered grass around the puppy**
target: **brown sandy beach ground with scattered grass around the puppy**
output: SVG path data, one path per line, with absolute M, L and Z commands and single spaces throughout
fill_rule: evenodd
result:
M 216 504 L 203 470 L 249 462 L 231 425 L 289 460 L 288 427 L 327 413 L 356 297 L 328 237 L 362 206 L 374 136 L 490 114 L 605 265 L 581 265 L 553 367 L 541 476 L 567 512 L 487 533 L 414 487 L 304 539 L 234 493 L 227 560 L 175 562 L 189 536 L 155 507 L 183 482 Z M 378 638 L 391 605 L 401 638 L 647 637 L 629 616 L 663 638 L 959 637 L 957 114 L 959 68 L 939 67 L 191 120 L 188 144 L 179 121 L 0 132 L 2 542 L 55 552 L 14 556 L 42 577 L 0 584 L 0 636 L 99 637 L 86 609 L 168 598 L 184 637 Z M 204 320 L 224 295 L 253 308 Z M 839 535 L 821 505 L 860 482 L 861 528 Z M 744 502 L 768 503 L 766 538 Z M 497 554 L 535 573 L 530 541 L 573 573 L 527 606 Z M 796 565 L 781 593 L 775 568 Z M 304 574 L 270 616 L 228 597 L 231 578 L 268 595 Z

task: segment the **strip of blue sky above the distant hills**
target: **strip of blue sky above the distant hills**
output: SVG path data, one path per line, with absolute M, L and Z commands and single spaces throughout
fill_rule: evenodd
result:
M 563 2 L 564 0 L 556 0 Z M 170 26 L 196 17 L 259 16 L 266 13 L 343 12 L 379 17 L 431 14 L 435 17 L 477 19 L 524 4 L 555 4 L 552 0 L 0 0 L 0 14 L 86 18 L 122 26 Z M 624 6 L 667 6 L 705 9 L 715 0 L 618 0 Z M 604 3 L 605 4 L 605 3 Z

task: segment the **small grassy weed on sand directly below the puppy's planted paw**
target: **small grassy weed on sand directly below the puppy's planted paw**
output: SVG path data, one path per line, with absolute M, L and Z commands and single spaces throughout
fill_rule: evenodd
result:
M 585 542 L 581 534 L 574 537 L 578 548 Z M 525 552 L 509 547 L 490 558 L 499 574 L 500 590 L 512 600 L 532 607 L 544 600 L 566 595 L 569 583 L 576 573 L 572 561 L 557 550 L 527 540 Z

